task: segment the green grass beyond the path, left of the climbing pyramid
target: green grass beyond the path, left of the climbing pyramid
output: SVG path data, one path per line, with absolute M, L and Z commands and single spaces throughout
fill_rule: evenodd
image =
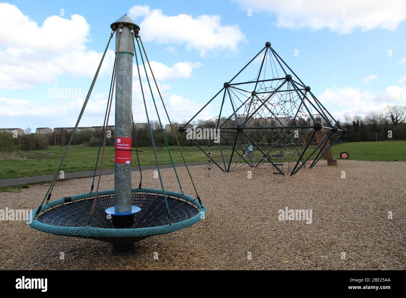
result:
M 61 170 L 65 173 L 94 170 L 98 150 L 98 147 L 86 147 L 82 145 L 70 146 Z M 155 165 L 155 157 L 152 148 L 138 148 L 138 150 L 143 151 L 138 152 L 141 166 Z M 186 162 L 207 160 L 207 157 L 198 148 L 182 148 L 182 151 L 184 152 Z M 55 174 L 64 152 L 64 146 L 50 146 L 47 150 L 22 152 L 26 154 L 23 155 L 26 157 L 26 160 L 0 161 L 0 179 Z M 157 148 L 157 154 L 160 164 L 171 163 L 166 147 Z M 171 154 L 175 163 L 183 163 L 179 150 L 171 148 Z M 138 166 L 136 152 L 132 152 L 132 165 L 134 167 Z M 106 147 L 103 169 L 112 168 L 114 168 L 114 148 Z

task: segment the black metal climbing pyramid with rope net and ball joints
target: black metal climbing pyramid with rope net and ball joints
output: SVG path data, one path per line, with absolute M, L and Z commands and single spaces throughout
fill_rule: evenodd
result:
M 195 120 L 213 106 L 214 118 Z M 210 163 L 224 172 L 269 166 L 274 175 L 296 174 L 321 158 L 336 165 L 330 148 L 346 133 L 270 42 L 179 131 L 213 126 L 220 141 L 209 150 L 192 139 Z

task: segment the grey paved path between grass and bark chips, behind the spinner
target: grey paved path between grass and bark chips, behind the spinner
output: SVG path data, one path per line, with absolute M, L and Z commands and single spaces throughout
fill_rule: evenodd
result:
M 205 165 L 207 161 L 197 161 L 194 163 L 188 163 L 188 165 Z M 175 167 L 182 167 L 185 166 L 184 163 L 175 163 Z M 172 167 L 172 164 L 169 165 L 160 165 L 160 168 L 165 167 Z M 156 169 L 156 165 L 148 165 L 145 167 L 141 167 L 142 170 L 151 170 Z M 133 167 L 133 171 L 138 171 L 138 167 Z M 93 177 L 94 171 L 84 171 L 84 172 L 75 172 L 75 173 L 65 173 L 65 178 L 60 179 L 59 175 L 56 180 L 67 180 L 67 179 L 76 179 L 76 178 L 87 178 Z M 104 169 L 102 170 L 102 175 L 114 174 L 114 169 Z M 99 171 L 96 172 L 96 176 L 99 176 Z M 32 177 L 22 177 L 22 178 L 13 178 L 13 179 L 4 179 L 0 180 L 0 187 L 9 187 L 14 185 L 20 184 L 30 184 L 30 183 L 43 183 L 43 182 L 51 182 L 54 178 L 54 174 L 52 175 L 43 175 L 43 176 L 32 176 Z

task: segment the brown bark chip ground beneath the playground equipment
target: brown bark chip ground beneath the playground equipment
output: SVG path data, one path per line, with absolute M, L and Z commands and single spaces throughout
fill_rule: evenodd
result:
M 194 196 L 186 168 L 177 169 Z M 405 162 L 320 161 L 276 181 L 268 167 L 251 169 L 251 179 L 248 169 L 212 168 L 210 176 L 205 165 L 190 170 L 207 206 L 192 227 L 137 242 L 133 255 L 120 257 L 110 243 L 0 221 L 0 269 L 406 269 Z M 144 187 L 160 188 L 153 170 L 143 174 Z M 165 188 L 179 191 L 173 169 L 162 174 Z M 133 172 L 133 187 L 138 181 Z M 89 192 L 90 185 L 91 178 L 57 182 L 52 199 Z M 0 209 L 34 209 L 48 186 L 0 193 Z M 102 189 L 113 188 L 114 176 L 102 176 Z M 311 209 L 312 222 L 280 221 L 286 207 Z

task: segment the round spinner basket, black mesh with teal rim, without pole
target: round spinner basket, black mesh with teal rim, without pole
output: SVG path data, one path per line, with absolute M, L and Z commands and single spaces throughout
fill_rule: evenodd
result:
M 89 226 L 87 226 L 87 219 L 93 204 L 94 193 L 64 197 L 44 204 L 42 212 L 37 219 L 32 219 L 30 227 L 54 235 L 131 243 L 149 236 L 184 229 L 200 221 L 206 212 L 205 206 L 200 206 L 197 199 L 193 197 L 171 191 L 165 191 L 165 194 L 171 212 L 171 224 L 162 190 L 143 188 L 132 189 L 132 205 L 141 208 L 135 216 L 132 228 L 114 228 L 112 220 L 107 217 L 105 210 L 114 206 L 114 190 L 99 192 Z M 33 214 L 36 211 L 34 210 Z

